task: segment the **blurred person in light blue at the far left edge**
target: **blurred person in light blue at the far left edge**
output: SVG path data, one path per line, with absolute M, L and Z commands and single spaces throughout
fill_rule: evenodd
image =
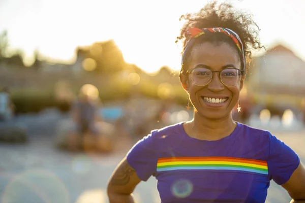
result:
M 14 103 L 10 91 L 4 87 L 0 92 L 0 121 L 9 121 L 14 115 Z

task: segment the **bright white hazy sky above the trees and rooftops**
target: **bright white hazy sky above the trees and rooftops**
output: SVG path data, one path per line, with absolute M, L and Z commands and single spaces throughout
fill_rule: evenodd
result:
M 179 70 L 179 17 L 199 11 L 207 2 L 0 0 L 0 31 L 8 30 L 11 49 L 23 50 L 25 62 L 31 62 L 36 49 L 44 57 L 72 62 L 77 46 L 113 39 L 125 60 L 146 72 L 163 65 Z M 227 2 L 253 14 L 263 45 L 281 42 L 305 60 L 305 1 Z

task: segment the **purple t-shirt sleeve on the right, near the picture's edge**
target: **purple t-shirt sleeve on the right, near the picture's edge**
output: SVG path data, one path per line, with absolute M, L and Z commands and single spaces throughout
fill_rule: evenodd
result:
M 277 184 L 286 183 L 300 163 L 298 155 L 284 142 L 269 133 L 268 171 Z

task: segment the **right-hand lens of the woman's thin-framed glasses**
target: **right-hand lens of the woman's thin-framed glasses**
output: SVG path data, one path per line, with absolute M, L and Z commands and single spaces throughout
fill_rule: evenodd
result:
M 241 72 L 238 69 L 224 69 L 220 72 L 220 78 L 224 85 L 233 87 L 240 82 Z

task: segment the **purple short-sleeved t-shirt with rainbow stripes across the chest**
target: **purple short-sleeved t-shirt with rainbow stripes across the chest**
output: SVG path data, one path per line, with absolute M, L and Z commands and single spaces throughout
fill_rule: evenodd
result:
M 127 161 L 142 181 L 156 177 L 163 203 L 265 202 L 270 180 L 284 184 L 300 162 L 268 131 L 237 123 L 230 136 L 203 141 L 182 122 L 151 131 Z

